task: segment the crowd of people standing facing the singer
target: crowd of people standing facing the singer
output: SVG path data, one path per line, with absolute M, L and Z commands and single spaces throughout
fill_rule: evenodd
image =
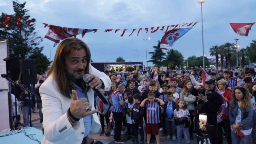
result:
M 102 125 L 100 136 L 112 136 L 116 143 L 131 139 L 134 144 L 144 144 L 146 137 L 145 143 L 159 144 L 161 134 L 166 140 L 181 144 L 184 138 L 183 142 L 189 144 L 194 140 L 193 133 L 198 136 L 206 133 L 212 144 L 222 144 L 223 137 L 228 144 L 255 143 L 254 72 L 246 68 L 211 69 L 206 70 L 209 77 L 204 82 L 202 72 L 197 69 L 190 73 L 158 71 L 156 80 L 152 73 L 107 73 L 111 88 L 102 92 L 110 103 L 105 105 L 95 96 Z M 224 102 L 227 102 L 225 114 L 219 121 L 218 111 Z M 199 130 L 200 113 L 207 115 L 206 132 Z M 125 128 L 126 137 L 122 138 Z

